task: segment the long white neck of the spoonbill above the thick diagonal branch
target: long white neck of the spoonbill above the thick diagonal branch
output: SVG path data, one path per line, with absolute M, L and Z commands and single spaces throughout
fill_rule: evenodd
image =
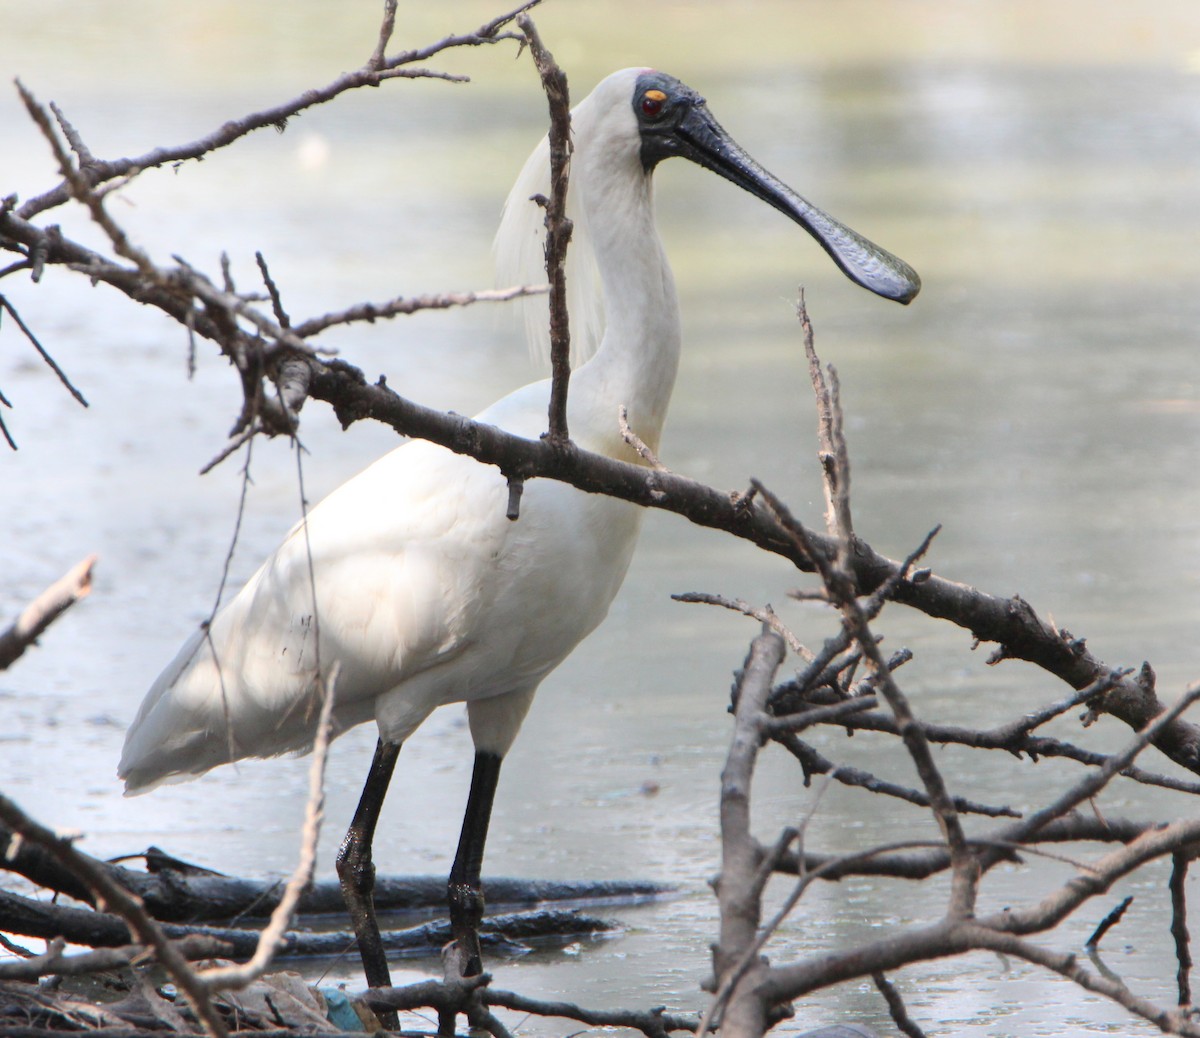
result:
M 654 227 L 650 179 L 640 168 L 586 180 L 588 235 L 604 286 L 605 335 L 596 354 L 572 377 L 577 400 L 594 402 L 581 415 L 599 443 L 625 456 L 617 409 L 632 431 L 658 448 L 679 366 L 679 302 L 674 278 Z M 572 434 L 576 428 L 572 425 Z M 584 430 L 580 428 L 578 433 Z M 608 444 L 620 444 L 608 449 Z

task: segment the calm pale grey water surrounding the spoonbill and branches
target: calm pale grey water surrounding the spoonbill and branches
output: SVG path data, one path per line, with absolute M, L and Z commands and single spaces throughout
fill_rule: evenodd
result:
M 100 4 L 0 0 L 0 71 L 56 100 L 101 155 L 191 139 L 361 64 L 374 2 Z M 470 28 L 491 10 L 402 12 L 404 43 Z M 608 71 L 664 67 L 707 92 L 714 112 L 768 168 L 904 256 L 925 289 L 908 310 L 856 289 L 776 214 L 694 168 L 658 178 L 661 226 L 679 281 L 686 355 L 664 444 L 666 462 L 718 486 L 760 476 L 818 522 L 812 407 L 791 312 L 806 286 L 817 344 L 841 374 L 859 532 L 904 554 L 943 523 L 935 568 L 1000 594 L 1020 593 L 1112 665 L 1151 660 L 1165 696 L 1196 677 L 1200 622 L 1200 433 L 1195 290 L 1200 235 L 1200 10 L 1163 2 L 1106 14 L 1092 5 L 760 2 L 581 5 L 539 17 L 576 96 Z M 137 24 L 139 31 L 130 32 Z M 136 38 L 134 38 L 136 37 Z M 242 286 L 262 250 L 295 313 L 491 283 L 499 204 L 542 132 L 526 60 L 472 52 L 442 67 L 475 85 L 397 83 L 305 113 L 178 173 L 144 178 L 113 203 L 134 239 L 166 262 L 180 252 Z M 53 181 L 16 97 L 0 104 L 0 192 Z M 97 240 L 78 215 L 71 233 Z M 52 271 L 4 290 L 91 402 L 80 409 L 14 334 L 0 330 L 5 420 L 20 451 L 4 457 L 6 538 L 0 614 L 71 563 L 98 552 L 94 595 L 44 646 L 0 674 L 5 792 L 42 821 L 86 834 L 96 854 L 155 842 L 230 872 L 288 869 L 305 761 L 226 768 L 124 800 L 114 779 L 124 726 L 178 643 L 208 612 L 234 523 L 239 466 L 197 470 L 236 409 L 223 361 L 202 348 L 186 377 L 178 329 L 78 277 Z M 416 317 L 330 338 L 368 376 L 416 400 L 470 413 L 534 377 L 494 311 Z M 305 412 L 305 481 L 317 498 L 392 444 L 342 434 Z M 234 563 L 248 575 L 298 514 L 295 466 L 259 445 Z M 715 908 L 716 775 L 728 736 L 730 672 L 752 625 L 670 601 L 709 590 L 770 601 L 800 637 L 832 629 L 790 605 L 802 583 L 778 559 L 650 516 L 610 619 L 550 680 L 509 762 L 488 870 L 547 877 L 648 877 L 680 896 L 620 914 L 617 940 L 502 964 L 498 983 L 583 1003 L 702 1006 Z M 1000 721 L 1060 694 L 1028 667 L 990 670 L 968 637 L 894 611 L 878 629 L 917 653 L 905 688 L 930 719 Z M 1118 745 L 1124 732 L 1069 722 L 1058 733 Z M 373 733 L 336 744 L 332 853 Z M 911 768 L 865 738 L 822 749 Z M 449 868 L 466 797 L 469 739 L 458 709 L 406 746 L 377 845 L 388 871 Z M 1000 757 L 944 752 L 958 792 L 1040 803 L 1069 772 L 1012 770 Z M 1160 767 L 1159 761 L 1148 761 Z M 658 790 L 647 793 L 648 787 Z M 757 790 L 769 839 L 809 803 L 793 770 L 767 755 Z M 1110 815 L 1192 810 L 1115 787 Z M 811 846 L 846 850 L 923 822 L 835 791 Z M 1049 889 L 1066 866 L 992 877 L 984 908 Z M 1073 920 L 1054 947 L 1078 947 L 1117 899 L 1138 900 L 1109 937 L 1109 965 L 1170 1001 L 1174 962 L 1153 870 Z M 781 888 L 782 892 L 782 888 Z M 857 882 L 818 889 L 772 952 L 786 961 L 868 940 L 937 913 L 941 889 Z M 401 971 L 421 976 L 426 964 Z M 352 964 L 335 967 L 350 978 Z M 900 974 L 930 1033 L 1152 1033 L 1070 986 L 978 955 Z M 356 983 L 356 982 L 355 982 Z M 892 1033 L 869 985 L 802 1007 L 804 1026 L 853 1018 Z M 556 1033 L 553 1025 L 533 1027 Z M 560 1030 L 560 1028 L 558 1028 Z M 1156 1032 L 1157 1033 L 1157 1032 Z

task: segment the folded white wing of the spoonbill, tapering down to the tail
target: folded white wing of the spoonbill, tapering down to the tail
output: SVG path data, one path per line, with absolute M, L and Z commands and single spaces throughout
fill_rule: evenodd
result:
M 472 581 L 508 533 L 504 494 L 494 469 L 424 442 L 343 484 L 155 682 L 119 767 L 130 791 L 307 749 L 318 662 L 336 667 L 344 731 L 461 653 L 479 623 Z

